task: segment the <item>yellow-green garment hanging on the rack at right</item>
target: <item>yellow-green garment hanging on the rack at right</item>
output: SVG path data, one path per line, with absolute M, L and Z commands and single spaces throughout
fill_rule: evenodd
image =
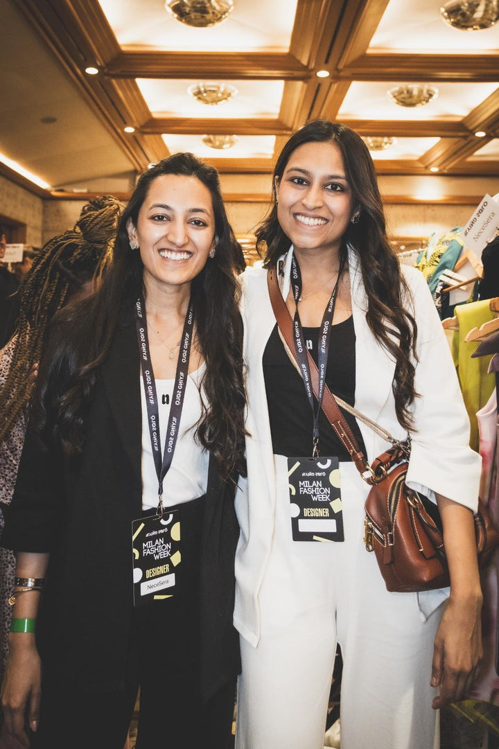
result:
M 465 337 L 474 327 L 480 327 L 483 323 L 492 320 L 495 314 L 490 309 L 488 299 L 469 304 L 459 304 L 454 309 L 454 314 L 459 321 L 459 331 L 456 331 L 454 336 L 454 363 L 457 360 L 459 382 L 461 383 L 466 410 L 470 417 L 470 446 L 478 452 L 480 437 L 477 411 L 486 404 L 492 395 L 492 390 L 495 388 L 495 375 L 494 373 L 489 375 L 487 372 L 492 357 L 471 358 L 471 354 L 474 354 L 480 341 L 466 343 Z

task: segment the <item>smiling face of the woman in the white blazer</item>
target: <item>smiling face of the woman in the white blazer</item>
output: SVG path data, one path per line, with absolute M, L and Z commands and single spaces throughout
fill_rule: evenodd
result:
M 342 154 L 334 143 L 304 143 L 276 183 L 277 218 L 297 252 L 338 252 L 354 211 Z

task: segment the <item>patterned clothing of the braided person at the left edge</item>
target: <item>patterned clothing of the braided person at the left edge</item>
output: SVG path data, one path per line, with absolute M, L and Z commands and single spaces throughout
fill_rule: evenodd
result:
M 0 384 L 3 385 L 16 348 L 16 339 L 10 340 L 0 352 Z M 21 458 L 26 431 L 25 414 L 13 426 L 12 431 L 0 443 L 0 534 L 4 530 L 4 506 L 10 504 L 17 468 Z M 12 595 L 16 560 L 13 551 L 1 548 L 0 536 L 0 682 L 4 675 L 7 659 L 8 632 L 12 616 L 8 599 Z

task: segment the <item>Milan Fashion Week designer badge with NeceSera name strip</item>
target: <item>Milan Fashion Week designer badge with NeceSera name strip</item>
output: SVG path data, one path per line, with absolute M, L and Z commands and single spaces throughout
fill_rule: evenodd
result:
M 132 523 L 133 605 L 171 598 L 178 589 L 181 562 L 179 511 L 165 510 Z

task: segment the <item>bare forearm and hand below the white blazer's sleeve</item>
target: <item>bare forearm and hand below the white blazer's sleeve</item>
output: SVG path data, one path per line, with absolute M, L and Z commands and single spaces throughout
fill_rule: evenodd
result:
M 450 571 L 450 596 L 435 637 L 432 687 L 440 694 L 432 706 L 462 700 L 480 667 L 482 590 L 477 562 L 473 513 L 437 494 Z

